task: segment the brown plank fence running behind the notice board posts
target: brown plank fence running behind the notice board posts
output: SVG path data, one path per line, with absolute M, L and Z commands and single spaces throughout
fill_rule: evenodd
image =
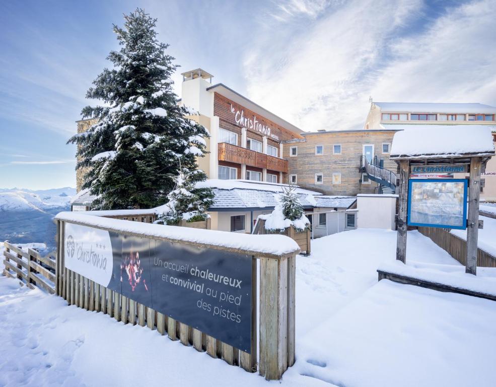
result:
M 465 240 L 453 235 L 450 233 L 450 230 L 446 228 L 418 227 L 418 231 L 431 238 L 434 243 L 447 251 L 459 263 L 466 265 L 467 242 Z M 496 257 L 478 248 L 477 266 L 483 268 L 496 268 Z

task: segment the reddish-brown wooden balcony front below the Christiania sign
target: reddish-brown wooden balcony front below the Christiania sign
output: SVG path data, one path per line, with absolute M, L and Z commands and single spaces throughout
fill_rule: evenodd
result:
M 288 160 L 228 143 L 219 143 L 219 161 L 246 164 L 250 167 L 266 168 L 271 171 L 288 173 Z

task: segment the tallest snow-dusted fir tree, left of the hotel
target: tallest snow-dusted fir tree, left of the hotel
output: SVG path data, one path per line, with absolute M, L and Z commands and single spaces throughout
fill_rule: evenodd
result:
M 121 46 L 107 57 L 113 68 L 104 69 L 86 95 L 110 107 L 85 107 L 83 118 L 98 122 L 68 141 L 78 144 L 76 168 L 90 167 L 83 188 L 100 196 L 96 209 L 165 203 L 177 171 L 197 171 L 196 156 L 205 153 L 209 136 L 176 103 L 171 75 L 177 66 L 165 52 L 168 44 L 157 40 L 156 19 L 141 9 L 124 19 L 124 28 L 113 28 Z M 190 177 L 193 182 L 206 175 Z

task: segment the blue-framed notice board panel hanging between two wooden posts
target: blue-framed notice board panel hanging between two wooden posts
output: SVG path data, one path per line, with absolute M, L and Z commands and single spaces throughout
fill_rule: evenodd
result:
M 410 179 L 408 225 L 465 229 L 467 179 Z

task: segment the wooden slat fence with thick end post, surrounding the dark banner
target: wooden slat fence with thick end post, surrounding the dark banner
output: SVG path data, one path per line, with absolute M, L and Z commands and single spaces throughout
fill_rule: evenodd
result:
M 206 351 L 211 357 L 224 359 L 227 363 L 240 366 L 246 371 L 256 372 L 258 369 L 260 375 L 268 380 L 280 379 L 282 373 L 294 364 L 295 273 L 296 254 L 300 252 L 299 250 L 274 255 L 243 249 L 220 248 L 224 251 L 252 255 L 252 300 L 254 302 L 252 303 L 251 354 L 249 354 L 67 269 L 64 265 L 64 224 L 66 221 L 58 216 L 56 218 L 58 245 L 55 285 L 56 294 L 67 300 L 69 305 L 76 305 L 90 311 L 101 311 L 124 324 L 137 324 L 157 330 L 160 335 L 167 334 L 171 340 L 180 340 L 183 345 L 192 345 L 197 351 Z M 70 223 L 78 224 L 74 221 Z M 101 227 L 97 226 L 97 228 Z M 118 232 L 133 235 L 130 232 Z M 144 237 L 141 234 L 135 235 Z M 156 236 L 153 239 L 173 241 Z M 174 240 L 174 242 L 177 241 Z M 195 242 L 181 243 L 218 248 L 214 245 Z M 258 332 L 256 320 L 257 260 L 260 262 Z M 259 339 L 258 356 L 257 338 Z

